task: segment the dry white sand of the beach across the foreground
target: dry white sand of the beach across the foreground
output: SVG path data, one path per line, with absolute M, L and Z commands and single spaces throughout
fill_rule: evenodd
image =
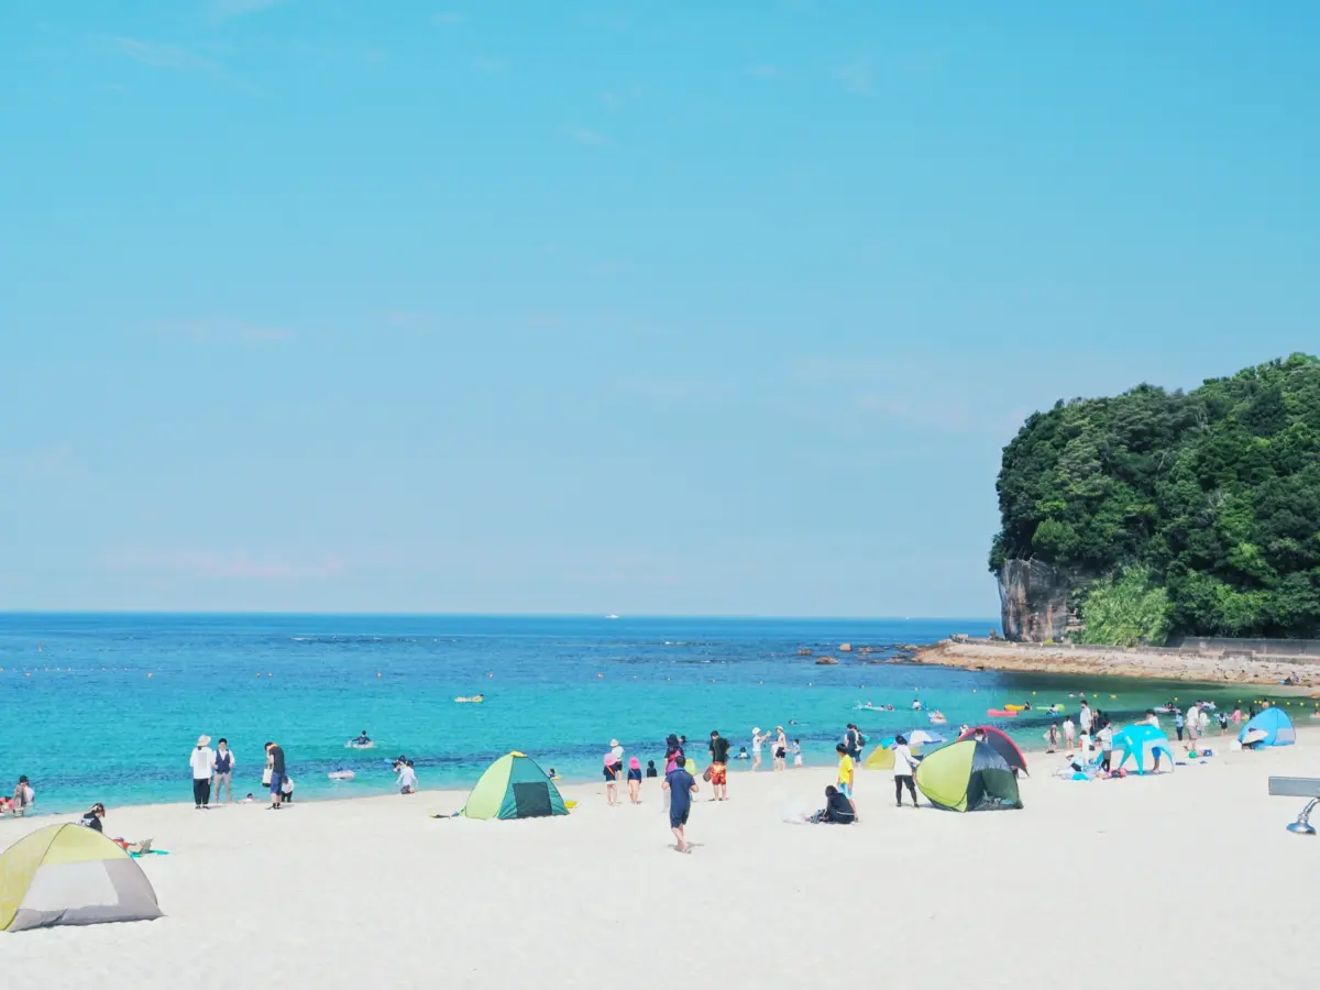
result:
M 896 809 L 858 777 L 855 828 L 789 825 L 833 771 L 737 772 L 673 851 L 642 807 L 565 788 L 573 814 L 432 820 L 462 795 L 282 812 L 111 808 L 150 836 L 166 917 L 0 935 L 13 987 L 1304 986 L 1320 838 L 1271 774 L 1320 738 L 1172 775 L 1072 783 L 1036 756 L 1020 812 Z M 1226 746 L 1225 746 L 1226 750 Z M 183 781 L 186 787 L 187 781 Z M 1320 817 L 1320 816 L 1317 816 Z M 0 847 L 50 817 L 0 820 Z

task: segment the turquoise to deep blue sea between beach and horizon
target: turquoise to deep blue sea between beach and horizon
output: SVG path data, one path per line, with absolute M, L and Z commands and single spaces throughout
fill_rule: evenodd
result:
M 1008 701 L 1138 711 L 1188 685 L 1003 675 L 867 663 L 841 643 L 886 647 L 982 632 L 994 619 L 853 620 L 370 615 L 0 615 L 0 791 L 20 774 L 37 810 L 92 801 L 190 800 L 189 752 L 227 737 L 235 791 L 259 791 L 261 746 L 279 741 L 300 799 L 392 789 L 407 754 L 421 787 L 466 787 L 511 748 L 569 779 L 595 779 L 611 738 L 663 755 L 668 733 L 719 729 L 744 746 L 784 725 L 807 762 L 833 760 L 843 725 L 873 738 L 916 726 L 913 694 L 950 727 Z M 833 653 L 817 667 L 797 651 Z M 873 655 L 875 659 L 878 655 Z M 1031 692 L 1038 692 L 1035 697 Z M 1199 690 L 1229 700 L 1232 692 Z M 479 705 L 457 696 L 482 693 Z M 1237 692 L 1241 693 L 1241 692 Z M 1117 697 L 1110 698 L 1110 694 Z M 892 704 L 894 713 L 858 710 Z M 1076 710 L 1076 702 L 1069 708 Z M 1039 743 L 1044 717 L 1003 723 Z M 796 722 L 797 725 L 789 725 Z M 375 750 L 350 750 L 366 730 Z M 327 779 L 346 767 L 351 783 Z

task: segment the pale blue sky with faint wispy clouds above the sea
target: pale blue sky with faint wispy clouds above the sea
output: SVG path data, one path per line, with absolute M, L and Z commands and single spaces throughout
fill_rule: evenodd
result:
M 1317 42 L 5 4 L 0 607 L 991 615 L 1026 413 L 1320 347 Z

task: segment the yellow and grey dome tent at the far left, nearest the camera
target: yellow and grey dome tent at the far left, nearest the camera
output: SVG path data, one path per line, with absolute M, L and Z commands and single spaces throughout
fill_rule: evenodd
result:
M 95 829 L 48 825 L 0 854 L 0 929 L 160 917 L 143 867 Z

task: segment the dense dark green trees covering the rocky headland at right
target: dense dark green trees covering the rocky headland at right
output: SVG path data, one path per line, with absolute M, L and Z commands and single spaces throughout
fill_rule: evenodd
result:
M 1088 639 L 1113 632 L 1090 609 L 1125 589 L 1140 614 L 1140 587 L 1167 597 L 1171 634 L 1320 636 L 1320 359 L 1060 401 L 1005 447 L 998 492 L 990 568 L 1064 569 Z

